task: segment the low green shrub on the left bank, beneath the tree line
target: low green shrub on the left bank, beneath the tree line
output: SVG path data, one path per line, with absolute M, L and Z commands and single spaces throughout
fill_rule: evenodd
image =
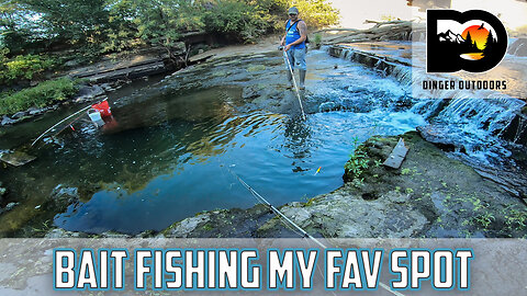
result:
M 41 82 L 13 94 L 0 98 L 0 115 L 25 111 L 32 106 L 45 107 L 56 101 L 64 101 L 77 93 L 77 81 L 69 78 L 59 78 Z

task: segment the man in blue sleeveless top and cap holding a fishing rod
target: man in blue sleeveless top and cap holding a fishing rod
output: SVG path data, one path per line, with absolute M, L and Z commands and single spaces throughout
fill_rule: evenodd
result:
M 305 89 L 305 54 L 306 46 L 305 41 L 307 38 L 307 25 L 304 21 L 299 19 L 299 9 L 290 8 L 289 9 L 289 20 L 285 23 L 285 35 L 282 37 L 281 45 L 284 46 L 283 50 L 288 54 L 288 59 L 291 64 L 291 68 L 294 73 L 294 67 L 296 66 L 300 70 L 300 89 Z M 288 79 L 292 83 L 292 76 L 288 67 Z

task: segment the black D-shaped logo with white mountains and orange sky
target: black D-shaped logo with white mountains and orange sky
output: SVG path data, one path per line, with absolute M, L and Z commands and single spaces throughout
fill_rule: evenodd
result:
M 487 71 L 507 50 L 507 32 L 482 10 L 427 10 L 427 72 Z

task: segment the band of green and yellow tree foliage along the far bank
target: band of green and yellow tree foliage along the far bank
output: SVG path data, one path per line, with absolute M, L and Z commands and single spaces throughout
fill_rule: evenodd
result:
M 138 44 L 169 49 L 182 34 L 203 30 L 254 42 L 281 32 L 291 5 L 313 29 L 338 21 L 326 0 L 0 0 L 0 42 L 12 55 L 51 48 L 100 54 Z

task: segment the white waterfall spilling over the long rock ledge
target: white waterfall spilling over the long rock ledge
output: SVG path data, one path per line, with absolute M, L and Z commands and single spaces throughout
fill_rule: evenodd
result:
M 518 118 L 520 109 L 525 103 L 516 98 L 505 95 L 492 90 L 434 90 L 423 91 L 421 83 L 424 80 L 435 80 L 437 76 L 429 76 L 424 69 L 416 70 L 411 65 L 397 64 L 388 58 L 371 53 L 354 49 L 349 46 L 330 46 L 326 50 L 334 57 L 356 61 L 377 69 L 383 76 L 396 79 L 403 88 L 414 87 L 412 112 L 424 115 L 433 123 L 456 126 L 451 133 L 468 133 L 480 135 L 481 140 L 489 136 L 502 136 L 511 123 Z M 446 79 L 457 80 L 456 77 Z M 456 82 L 457 83 L 457 82 Z M 431 99 L 427 99 L 431 98 Z M 445 99 L 433 99 L 445 98 Z M 479 98 L 479 99 L 474 99 Z M 518 129 L 509 138 L 516 141 L 526 132 L 524 121 L 518 124 Z M 520 135 L 518 135 L 518 133 Z M 456 137 L 456 135 L 450 135 Z M 525 137 L 525 136 L 524 136 Z

